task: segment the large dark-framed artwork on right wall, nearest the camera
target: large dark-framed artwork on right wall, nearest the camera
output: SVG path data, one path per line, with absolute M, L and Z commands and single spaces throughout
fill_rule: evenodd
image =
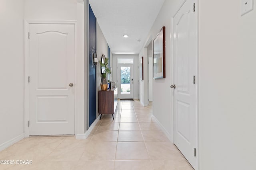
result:
M 153 77 L 165 78 L 165 27 L 153 41 Z

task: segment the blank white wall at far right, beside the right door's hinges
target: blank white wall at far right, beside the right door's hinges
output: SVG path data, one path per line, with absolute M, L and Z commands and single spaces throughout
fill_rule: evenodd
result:
M 256 169 L 256 3 L 199 4 L 201 170 Z

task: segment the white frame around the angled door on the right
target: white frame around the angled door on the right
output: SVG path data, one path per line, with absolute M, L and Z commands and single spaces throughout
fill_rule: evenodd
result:
M 179 6 L 178 10 L 176 11 L 176 13 L 171 17 L 171 63 L 170 65 L 172 65 L 172 69 L 170 70 L 170 75 L 172 75 L 172 84 L 174 84 L 174 63 L 173 63 L 173 60 L 174 60 L 174 53 L 173 53 L 173 30 L 174 30 L 174 17 L 176 16 L 176 14 L 178 13 L 178 11 L 180 10 L 180 8 L 182 8 L 182 6 L 185 4 L 187 0 L 183 0 L 182 4 Z M 196 167 L 195 170 L 199 170 L 200 167 L 199 167 L 199 55 L 198 55 L 198 51 L 199 51 L 199 35 L 198 35 L 198 21 L 199 21 L 199 15 L 198 15 L 198 0 L 195 0 L 196 2 L 196 11 L 195 11 L 195 15 L 196 15 Z M 171 96 L 172 96 L 172 115 L 171 115 L 171 122 L 172 122 L 172 134 L 174 134 L 174 120 L 173 120 L 173 117 L 174 117 L 174 109 L 173 109 L 173 106 L 174 106 L 174 98 L 173 98 L 173 95 L 174 95 L 174 92 L 173 90 L 171 90 Z M 174 139 L 172 140 L 172 143 L 174 143 Z

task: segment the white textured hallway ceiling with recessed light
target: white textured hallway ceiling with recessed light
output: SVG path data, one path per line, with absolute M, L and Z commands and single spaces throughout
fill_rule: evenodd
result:
M 138 54 L 164 0 L 89 0 L 89 3 L 111 52 Z

